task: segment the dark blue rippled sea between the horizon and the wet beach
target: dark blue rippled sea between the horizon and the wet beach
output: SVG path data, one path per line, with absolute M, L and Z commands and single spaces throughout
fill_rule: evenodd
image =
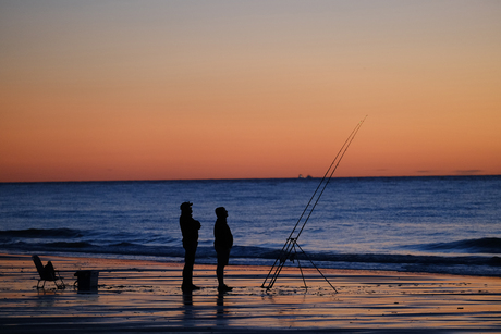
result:
M 223 206 L 230 264 L 271 267 L 319 182 L 4 183 L 0 251 L 182 262 L 179 206 L 192 201 L 196 263 L 216 263 Z M 501 176 L 332 178 L 298 245 L 319 268 L 501 276 L 500 203 Z

